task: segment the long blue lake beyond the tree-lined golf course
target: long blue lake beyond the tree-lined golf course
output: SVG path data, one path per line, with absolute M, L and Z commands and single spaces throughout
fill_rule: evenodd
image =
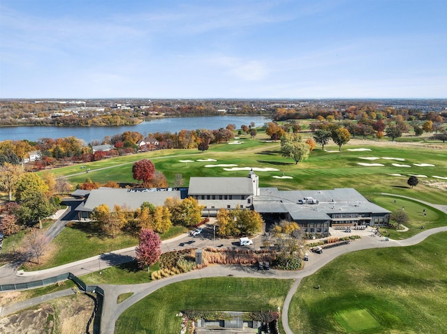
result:
M 77 137 L 87 144 L 92 140 L 102 140 L 105 136 L 119 135 L 124 131 L 136 131 L 147 136 L 154 132 L 179 132 L 180 130 L 226 128 L 228 124 L 235 124 L 236 129 L 242 125 L 249 126 L 251 122 L 256 127 L 263 126 L 271 119 L 263 116 L 203 116 L 177 117 L 168 119 L 154 119 L 136 126 L 94 126 L 66 128 L 60 126 L 8 126 L 0 127 L 0 142 L 3 140 L 27 139 L 36 142 L 39 138 Z

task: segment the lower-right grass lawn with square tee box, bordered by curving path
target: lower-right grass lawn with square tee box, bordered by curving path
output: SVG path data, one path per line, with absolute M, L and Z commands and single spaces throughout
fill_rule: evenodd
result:
M 335 259 L 302 280 L 289 325 L 296 334 L 446 333 L 446 242 L 444 232 Z

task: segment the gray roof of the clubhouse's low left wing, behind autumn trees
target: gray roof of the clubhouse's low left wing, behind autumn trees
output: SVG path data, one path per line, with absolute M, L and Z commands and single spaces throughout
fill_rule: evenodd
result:
M 115 204 L 127 206 L 131 210 L 135 210 L 143 202 L 152 203 L 154 206 L 161 206 L 168 197 L 180 198 L 180 192 L 178 190 L 142 191 L 139 189 L 101 188 L 91 190 L 87 201 L 78 206 L 76 211 L 93 211 L 94 208 L 101 204 L 107 204 L 111 211 L 113 211 Z

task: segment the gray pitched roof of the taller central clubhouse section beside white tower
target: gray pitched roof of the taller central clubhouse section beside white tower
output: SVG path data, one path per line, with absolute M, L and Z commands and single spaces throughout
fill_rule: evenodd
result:
M 249 177 L 191 177 L 188 195 L 253 195 Z

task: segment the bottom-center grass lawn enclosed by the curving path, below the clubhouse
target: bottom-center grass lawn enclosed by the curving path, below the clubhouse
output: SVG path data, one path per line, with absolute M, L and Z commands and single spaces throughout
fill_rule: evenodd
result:
M 179 333 L 182 310 L 277 310 L 292 280 L 203 278 L 170 284 L 135 303 L 119 317 L 115 333 Z

